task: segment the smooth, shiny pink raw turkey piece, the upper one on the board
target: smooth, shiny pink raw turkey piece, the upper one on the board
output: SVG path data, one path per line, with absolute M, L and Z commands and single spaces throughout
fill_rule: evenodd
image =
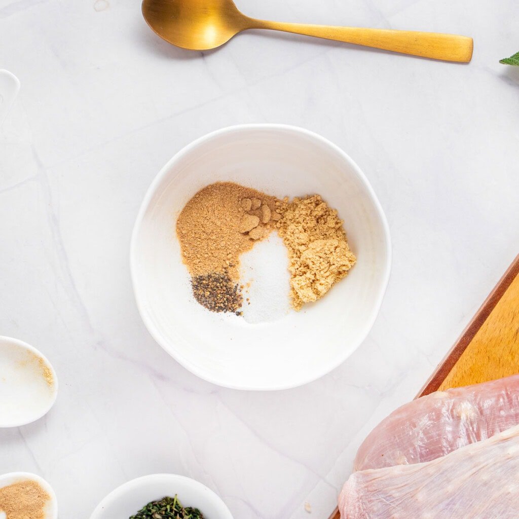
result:
M 355 470 L 445 456 L 519 424 L 519 375 L 449 389 L 403 405 L 367 436 Z

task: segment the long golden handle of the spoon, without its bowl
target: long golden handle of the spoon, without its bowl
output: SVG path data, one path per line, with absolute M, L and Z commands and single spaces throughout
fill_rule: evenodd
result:
M 306 36 L 392 50 L 434 60 L 468 63 L 472 58 L 472 38 L 456 34 L 307 25 L 255 20 L 252 18 L 249 21 L 250 26 L 248 29 L 270 29 L 273 31 L 304 34 Z

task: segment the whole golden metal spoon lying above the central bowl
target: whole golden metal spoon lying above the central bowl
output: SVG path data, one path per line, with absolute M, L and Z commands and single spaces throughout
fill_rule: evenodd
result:
M 435 60 L 468 63 L 472 58 L 468 36 L 269 22 L 243 15 L 232 0 L 144 0 L 142 13 L 161 38 L 184 49 L 214 49 L 241 31 L 271 29 Z

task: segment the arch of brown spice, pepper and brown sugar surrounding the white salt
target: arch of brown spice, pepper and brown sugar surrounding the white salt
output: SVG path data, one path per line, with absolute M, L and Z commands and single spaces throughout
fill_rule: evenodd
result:
M 337 211 L 319 195 L 281 201 L 232 182 L 216 182 L 190 199 L 176 221 L 196 301 L 208 310 L 241 316 L 240 256 L 273 229 L 289 255 L 278 267 L 289 269 L 295 310 L 318 301 L 356 262 Z M 246 301 L 250 305 L 250 298 Z

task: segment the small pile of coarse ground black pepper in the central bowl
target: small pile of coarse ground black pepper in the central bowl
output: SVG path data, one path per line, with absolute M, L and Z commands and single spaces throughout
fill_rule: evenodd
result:
M 238 283 L 230 279 L 227 271 L 195 276 L 191 278 L 191 286 L 197 302 L 208 310 L 241 315 L 241 289 Z

